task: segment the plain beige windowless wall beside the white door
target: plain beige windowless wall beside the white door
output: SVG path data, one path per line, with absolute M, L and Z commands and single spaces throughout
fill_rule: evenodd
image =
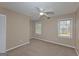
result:
M 7 33 L 6 48 L 7 50 L 29 42 L 30 39 L 30 17 L 0 7 L 0 14 L 6 15 Z

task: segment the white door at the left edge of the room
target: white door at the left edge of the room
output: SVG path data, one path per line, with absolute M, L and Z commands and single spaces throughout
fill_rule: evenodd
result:
M 6 16 L 0 14 L 0 53 L 6 52 Z

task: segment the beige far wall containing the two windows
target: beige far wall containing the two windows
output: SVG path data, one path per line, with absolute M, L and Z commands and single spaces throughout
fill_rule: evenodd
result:
M 48 41 L 51 43 L 58 43 L 58 44 L 63 44 L 69 47 L 75 47 L 75 25 L 73 25 L 73 36 L 72 39 L 69 38 L 59 38 L 58 37 L 58 21 L 60 19 L 64 19 L 64 18 L 72 18 L 73 21 L 75 21 L 75 14 L 67 14 L 67 15 L 60 15 L 60 16 L 54 16 L 51 19 L 46 19 L 45 17 L 43 17 L 42 19 L 40 19 L 39 21 L 42 22 L 42 34 L 41 35 L 37 35 L 35 33 L 35 22 L 39 22 L 39 21 L 33 21 L 32 23 L 32 37 L 36 38 L 36 39 L 41 39 L 44 41 Z

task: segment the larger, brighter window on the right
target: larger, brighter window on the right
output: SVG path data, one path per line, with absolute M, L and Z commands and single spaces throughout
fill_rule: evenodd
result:
M 59 21 L 58 36 L 71 37 L 72 35 L 72 21 L 71 19 L 64 19 Z

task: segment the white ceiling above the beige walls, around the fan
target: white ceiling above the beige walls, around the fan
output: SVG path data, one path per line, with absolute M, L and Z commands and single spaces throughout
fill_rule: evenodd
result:
M 33 20 L 39 18 L 39 13 L 35 7 L 54 11 L 54 15 L 63 15 L 74 13 L 79 7 L 78 2 L 0 2 L 0 6 L 11 9 L 13 11 L 32 16 Z

